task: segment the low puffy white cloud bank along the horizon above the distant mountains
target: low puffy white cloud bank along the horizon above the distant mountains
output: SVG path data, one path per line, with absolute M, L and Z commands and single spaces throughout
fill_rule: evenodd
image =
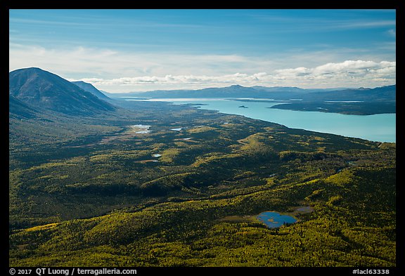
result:
M 257 72 L 255 74 L 224 74 L 221 76 L 207 75 L 172 75 L 163 77 L 120 77 L 116 79 L 84 78 L 82 81 L 97 87 L 108 86 L 145 86 L 154 84 L 162 87 L 196 88 L 209 86 L 227 86 L 240 84 L 243 86 L 300 86 L 323 87 L 332 86 L 373 86 L 394 84 L 396 62 L 370 60 L 345 60 L 342 63 L 327 63 L 313 68 L 297 67 L 273 72 Z M 368 85 L 367 85 L 368 84 Z M 150 86 L 152 87 L 152 86 Z

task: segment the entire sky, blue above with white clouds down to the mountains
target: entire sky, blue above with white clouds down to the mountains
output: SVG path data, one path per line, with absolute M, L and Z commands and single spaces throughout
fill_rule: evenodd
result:
M 394 10 L 11 10 L 9 70 L 108 92 L 395 84 Z

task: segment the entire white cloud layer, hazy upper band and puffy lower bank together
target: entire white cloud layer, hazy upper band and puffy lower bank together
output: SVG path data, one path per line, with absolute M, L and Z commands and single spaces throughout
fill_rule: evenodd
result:
M 181 53 L 122 53 L 108 49 L 48 49 L 10 44 L 9 70 L 40 67 L 108 92 L 243 86 L 375 87 L 394 84 L 396 63 L 342 60 L 328 54 L 248 57 Z M 298 66 L 295 66 L 298 65 Z

